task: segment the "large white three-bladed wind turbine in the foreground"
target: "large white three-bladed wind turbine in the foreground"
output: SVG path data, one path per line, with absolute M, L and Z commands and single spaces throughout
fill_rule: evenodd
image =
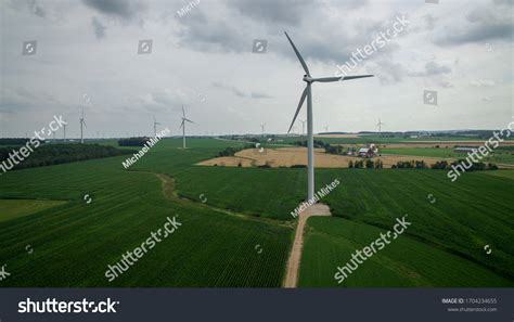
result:
M 296 49 L 295 44 L 293 43 L 293 40 L 291 40 L 290 35 L 285 33 L 285 37 L 287 37 L 287 40 L 291 43 L 291 47 L 293 47 L 293 50 L 295 51 L 296 56 L 298 57 L 298 61 L 301 64 L 301 67 L 304 67 L 304 70 L 306 75 L 304 75 L 303 80 L 307 82 L 307 86 L 301 93 L 301 98 L 298 103 L 298 107 L 296 108 L 295 116 L 293 117 L 293 121 L 291 123 L 290 130 L 287 133 L 291 131 L 293 128 L 293 125 L 295 124 L 296 117 L 298 116 L 299 111 L 301 110 L 301 106 L 304 105 L 305 98 L 307 98 L 307 159 L 308 159 L 308 167 L 307 167 L 307 199 L 312 199 L 314 196 L 314 137 L 313 137 L 313 127 L 312 127 L 312 90 L 311 86 L 312 82 L 319 81 L 319 82 L 332 82 L 332 81 L 339 81 L 339 80 L 351 80 L 351 79 L 357 79 L 357 78 L 364 78 L 364 77 L 373 77 L 373 75 L 359 75 L 359 76 L 343 76 L 343 77 L 323 77 L 323 78 L 312 78 L 310 76 L 309 68 L 307 67 L 307 64 L 305 63 L 304 59 L 301 57 L 300 53 Z

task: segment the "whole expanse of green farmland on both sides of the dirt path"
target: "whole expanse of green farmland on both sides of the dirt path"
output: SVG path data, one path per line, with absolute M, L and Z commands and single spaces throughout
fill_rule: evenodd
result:
M 290 211 L 305 195 L 307 173 L 194 165 L 243 144 L 194 139 L 182 150 L 181 140 L 167 139 L 129 170 L 120 156 L 3 175 L 0 199 L 67 203 L 0 222 L 0 263 L 11 273 L 0 285 L 280 287 L 294 233 Z M 487 172 L 452 183 L 438 170 L 318 169 L 318 188 L 335 178 L 342 184 L 323 199 L 334 217 L 308 221 L 300 286 L 335 286 L 348 254 L 404 214 L 413 222 L 408 232 L 345 286 L 512 286 L 514 181 Z M 172 178 L 180 197 L 163 193 L 155 173 Z M 175 234 L 107 282 L 107 265 L 177 215 Z

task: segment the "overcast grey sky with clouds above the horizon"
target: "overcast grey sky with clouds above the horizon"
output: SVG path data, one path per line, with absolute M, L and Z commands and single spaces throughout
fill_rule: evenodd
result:
M 182 104 L 191 134 L 283 133 L 305 88 L 284 30 L 312 76 L 331 77 L 402 15 L 407 28 L 351 70 L 374 78 L 313 85 L 314 131 L 376 130 L 378 118 L 395 131 L 505 127 L 513 1 L 428 2 L 439 3 L 193 0 L 180 16 L 189 1 L 1 0 L 0 137 L 31 136 L 53 115 L 77 137 L 82 107 L 88 138 L 151 134 L 153 115 L 177 134 Z

